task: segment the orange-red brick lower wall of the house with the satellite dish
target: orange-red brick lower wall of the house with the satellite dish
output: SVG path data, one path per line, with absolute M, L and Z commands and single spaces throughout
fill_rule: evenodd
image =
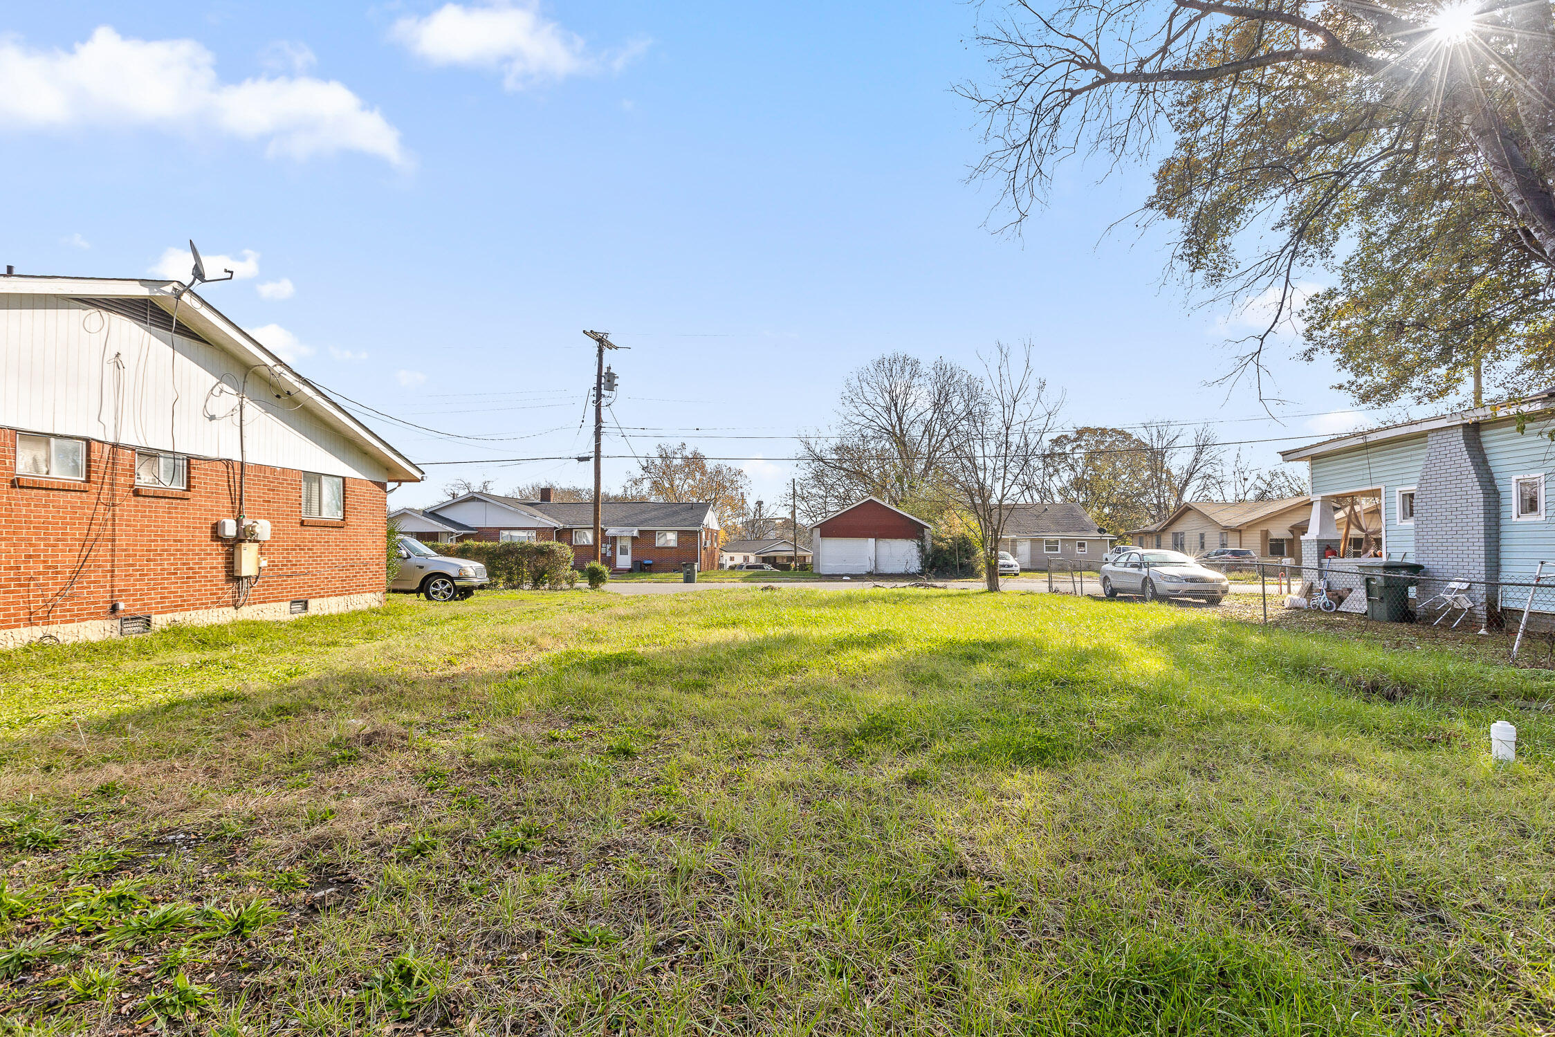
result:
M 39 485 L 26 485 L 39 484 Z M 384 589 L 384 484 L 345 480 L 345 519 L 302 518 L 302 473 L 249 465 L 249 518 L 269 519 L 269 564 L 249 603 Z M 132 448 L 89 443 L 86 484 L 16 476 L 0 429 L 0 630 L 233 605 L 238 462 L 188 460 L 188 491 L 135 487 Z

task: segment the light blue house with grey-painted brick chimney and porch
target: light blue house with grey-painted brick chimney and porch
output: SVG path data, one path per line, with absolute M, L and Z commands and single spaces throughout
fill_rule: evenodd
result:
M 1541 560 L 1555 566 L 1555 390 L 1516 406 L 1477 407 L 1283 451 L 1305 460 L 1312 519 L 1305 557 L 1339 547 L 1336 498 L 1379 496 L 1382 550 L 1426 566 L 1423 577 L 1527 583 Z M 1473 597 L 1483 600 L 1483 588 Z M 1525 594 L 1525 592 L 1524 592 Z M 1499 605 L 1522 608 L 1516 591 Z M 1494 595 L 1491 595 L 1494 600 Z

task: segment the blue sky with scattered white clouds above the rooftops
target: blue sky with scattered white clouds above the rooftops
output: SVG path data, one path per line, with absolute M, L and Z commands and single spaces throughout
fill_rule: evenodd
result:
M 1342 431 L 1227 396 L 1235 325 L 1162 286 L 1162 239 L 1106 235 L 1143 173 L 1070 166 L 1022 239 L 967 183 L 983 75 L 964 3 L 8 5 L 3 263 L 138 277 L 194 238 L 244 277 L 205 292 L 305 375 L 459 442 L 375 423 L 418 462 L 575 456 L 583 328 L 631 347 L 606 454 L 742 460 L 776 499 L 784 438 L 823 428 L 888 350 L 1036 345 L 1075 424 L 1216 420 L 1225 440 Z M 1289 415 L 1345 410 L 1275 364 Z M 644 429 L 644 431 L 638 431 Z M 698 432 L 700 429 L 700 432 Z M 1281 446 L 1246 448 L 1261 465 Z M 606 462 L 620 482 L 631 460 Z M 580 484 L 577 462 L 432 466 Z

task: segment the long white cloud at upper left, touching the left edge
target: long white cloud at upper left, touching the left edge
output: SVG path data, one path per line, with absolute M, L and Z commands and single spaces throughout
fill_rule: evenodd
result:
M 218 134 L 299 162 L 358 151 L 407 163 L 400 131 L 341 82 L 221 82 L 215 54 L 196 40 L 124 39 L 106 25 L 72 51 L 0 39 L 0 127 Z

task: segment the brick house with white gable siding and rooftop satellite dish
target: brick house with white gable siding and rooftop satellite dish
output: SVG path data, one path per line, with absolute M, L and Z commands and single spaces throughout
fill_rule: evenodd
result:
M 384 600 L 421 471 L 176 289 L 0 277 L 0 647 Z

